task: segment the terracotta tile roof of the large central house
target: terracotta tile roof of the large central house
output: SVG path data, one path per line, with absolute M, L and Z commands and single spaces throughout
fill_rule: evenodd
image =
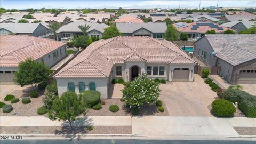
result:
M 177 45 L 147 36 L 118 36 L 93 42 L 54 77 L 109 77 L 115 63 L 196 63 Z

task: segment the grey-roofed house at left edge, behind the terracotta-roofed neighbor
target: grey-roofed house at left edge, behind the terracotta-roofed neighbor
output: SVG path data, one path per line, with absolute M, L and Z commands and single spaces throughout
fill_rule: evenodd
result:
M 1 23 L 0 35 L 43 36 L 48 29 L 42 23 Z

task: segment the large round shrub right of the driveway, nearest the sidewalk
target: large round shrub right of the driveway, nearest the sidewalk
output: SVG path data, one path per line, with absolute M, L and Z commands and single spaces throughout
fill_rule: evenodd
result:
M 212 102 L 212 110 L 217 116 L 229 117 L 235 113 L 236 108 L 230 101 L 219 99 Z

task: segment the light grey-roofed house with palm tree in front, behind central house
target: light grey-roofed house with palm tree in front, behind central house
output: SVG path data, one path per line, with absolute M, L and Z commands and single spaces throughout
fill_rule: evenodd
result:
M 104 23 L 99 24 L 93 21 L 74 21 L 60 27 L 60 29 L 57 31 L 58 39 L 61 39 L 61 38 L 71 39 L 71 38 L 74 38 L 75 35 L 83 35 L 82 31 L 78 28 L 79 25 L 90 26 L 89 30 L 87 30 L 87 33 L 86 33 L 89 36 L 89 38 L 91 38 L 92 36 L 102 38 L 104 29 L 109 27 Z

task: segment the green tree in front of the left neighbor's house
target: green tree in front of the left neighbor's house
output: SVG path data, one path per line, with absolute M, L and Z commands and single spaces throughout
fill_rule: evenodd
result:
M 51 74 L 50 69 L 42 62 L 27 58 L 18 65 L 18 71 L 14 73 L 14 82 L 24 86 L 31 84 L 34 90 L 38 89 L 38 84 L 47 81 Z

